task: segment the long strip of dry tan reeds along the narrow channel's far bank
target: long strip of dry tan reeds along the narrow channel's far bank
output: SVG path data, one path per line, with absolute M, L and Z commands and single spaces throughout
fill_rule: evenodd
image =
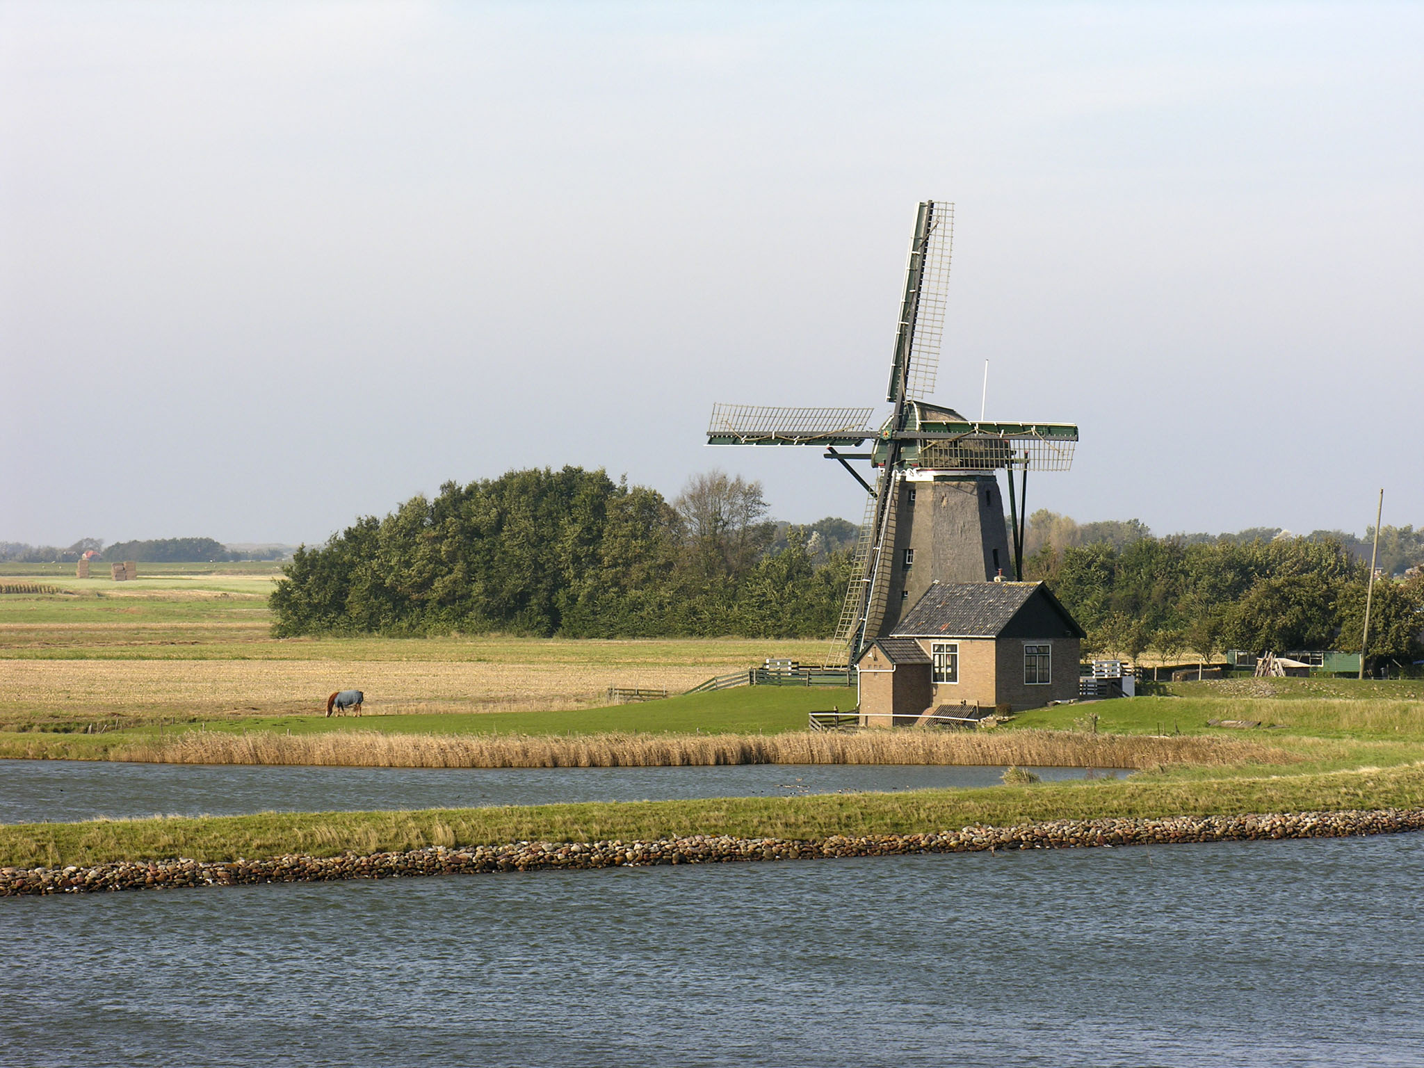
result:
M 1294 755 L 1233 738 L 1087 735 L 1064 731 L 780 735 L 316 735 L 187 732 L 135 742 L 110 759 L 151 763 L 363 768 L 678 768 L 740 763 L 1018 765 L 1156 768 L 1292 763 Z

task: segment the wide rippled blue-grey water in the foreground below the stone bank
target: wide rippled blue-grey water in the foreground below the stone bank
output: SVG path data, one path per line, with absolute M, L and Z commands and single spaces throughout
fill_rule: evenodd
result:
M 1424 1064 L 1424 834 L 0 900 L 0 1062 Z

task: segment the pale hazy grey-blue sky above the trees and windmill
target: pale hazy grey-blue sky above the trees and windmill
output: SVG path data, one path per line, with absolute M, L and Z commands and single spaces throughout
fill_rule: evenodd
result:
M 1424 6 L 0 4 L 0 540 L 320 543 L 446 481 L 759 478 L 713 402 L 1081 427 L 1030 508 L 1424 524 Z

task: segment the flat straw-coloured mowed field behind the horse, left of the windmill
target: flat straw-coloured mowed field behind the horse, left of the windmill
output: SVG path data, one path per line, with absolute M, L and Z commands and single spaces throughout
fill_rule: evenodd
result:
M 0 592 L 0 731 L 320 715 L 335 689 L 365 691 L 367 716 L 558 712 L 607 705 L 609 686 L 676 693 L 765 656 L 815 664 L 826 651 L 816 641 L 276 639 L 272 564 L 141 565 L 132 582 L 57 570 L 0 575 L 0 591 L 56 591 Z

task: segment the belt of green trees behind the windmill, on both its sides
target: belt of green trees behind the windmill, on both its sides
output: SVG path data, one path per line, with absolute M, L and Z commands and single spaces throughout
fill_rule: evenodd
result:
M 1156 538 L 1136 520 L 1045 511 L 1030 534 L 1027 577 L 1082 622 L 1089 654 L 1358 649 L 1368 568 L 1341 538 Z M 672 501 L 602 470 L 510 471 L 299 548 L 272 595 L 275 632 L 822 638 L 854 537 L 832 517 L 773 523 L 759 483 L 721 471 Z M 1371 652 L 1418 659 L 1421 608 L 1420 574 L 1378 582 Z

